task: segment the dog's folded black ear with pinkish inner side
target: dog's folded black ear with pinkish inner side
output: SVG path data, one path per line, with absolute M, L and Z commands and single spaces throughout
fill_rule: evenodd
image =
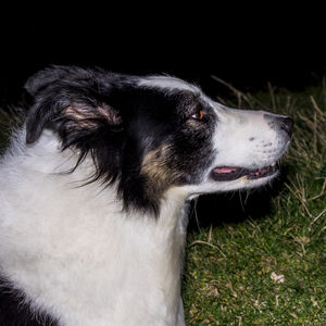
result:
M 105 74 L 77 67 L 54 66 L 37 73 L 25 85 L 34 104 L 26 122 L 26 142 L 35 142 L 43 128 L 55 131 L 63 146 L 122 129 L 121 113 L 110 101 Z

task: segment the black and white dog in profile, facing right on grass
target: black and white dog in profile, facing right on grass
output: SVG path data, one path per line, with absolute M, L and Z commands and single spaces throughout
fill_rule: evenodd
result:
M 290 117 L 171 76 L 50 66 L 0 162 L 0 324 L 185 325 L 187 211 L 278 175 Z

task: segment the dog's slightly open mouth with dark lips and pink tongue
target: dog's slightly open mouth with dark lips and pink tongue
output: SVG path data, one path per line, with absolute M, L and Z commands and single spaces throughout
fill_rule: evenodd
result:
M 212 178 L 216 181 L 231 181 L 246 176 L 248 179 L 254 180 L 274 175 L 277 171 L 277 163 L 256 170 L 237 166 L 217 166 L 212 171 Z

